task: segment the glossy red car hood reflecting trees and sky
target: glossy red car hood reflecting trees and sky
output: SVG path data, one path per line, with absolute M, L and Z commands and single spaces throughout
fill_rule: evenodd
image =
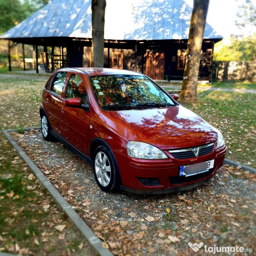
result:
M 100 116 L 118 135 L 163 150 L 199 146 L 218 138 L 217 129 L 182 106 L 102 111 Z

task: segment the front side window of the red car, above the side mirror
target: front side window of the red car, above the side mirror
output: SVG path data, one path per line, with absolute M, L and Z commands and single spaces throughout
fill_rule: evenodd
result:
M 69 78 L 65 99 L 67 98 L 80 98 L 82 104 L 88 103 L 88 96 L 80 76 L 72 74 Z

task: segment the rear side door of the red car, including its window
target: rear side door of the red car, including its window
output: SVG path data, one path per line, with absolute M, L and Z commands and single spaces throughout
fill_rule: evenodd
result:
M 61 135 L 61 108 L 64 104 L 64 99 L 62 98 L 62 95 L 63 89 L 66 84 L 67 74 L 68 72 L 56 73 L 51 84 L 49 85 L 48 90 L 44 91 L 44 109 L 46 111 L 52 130 L 59 135 Z

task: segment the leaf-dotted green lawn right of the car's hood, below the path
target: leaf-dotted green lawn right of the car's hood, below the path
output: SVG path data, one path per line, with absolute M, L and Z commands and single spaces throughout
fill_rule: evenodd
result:
M 256 94 L 198 90 L 198 102 L 182 104 L 218 128 L 228 159 L 256 168 Z

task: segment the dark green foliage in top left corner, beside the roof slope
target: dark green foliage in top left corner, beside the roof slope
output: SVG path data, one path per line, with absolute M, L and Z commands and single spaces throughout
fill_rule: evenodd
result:
M 0 35 L 25 20 L 48 0 L 0 0 Z

